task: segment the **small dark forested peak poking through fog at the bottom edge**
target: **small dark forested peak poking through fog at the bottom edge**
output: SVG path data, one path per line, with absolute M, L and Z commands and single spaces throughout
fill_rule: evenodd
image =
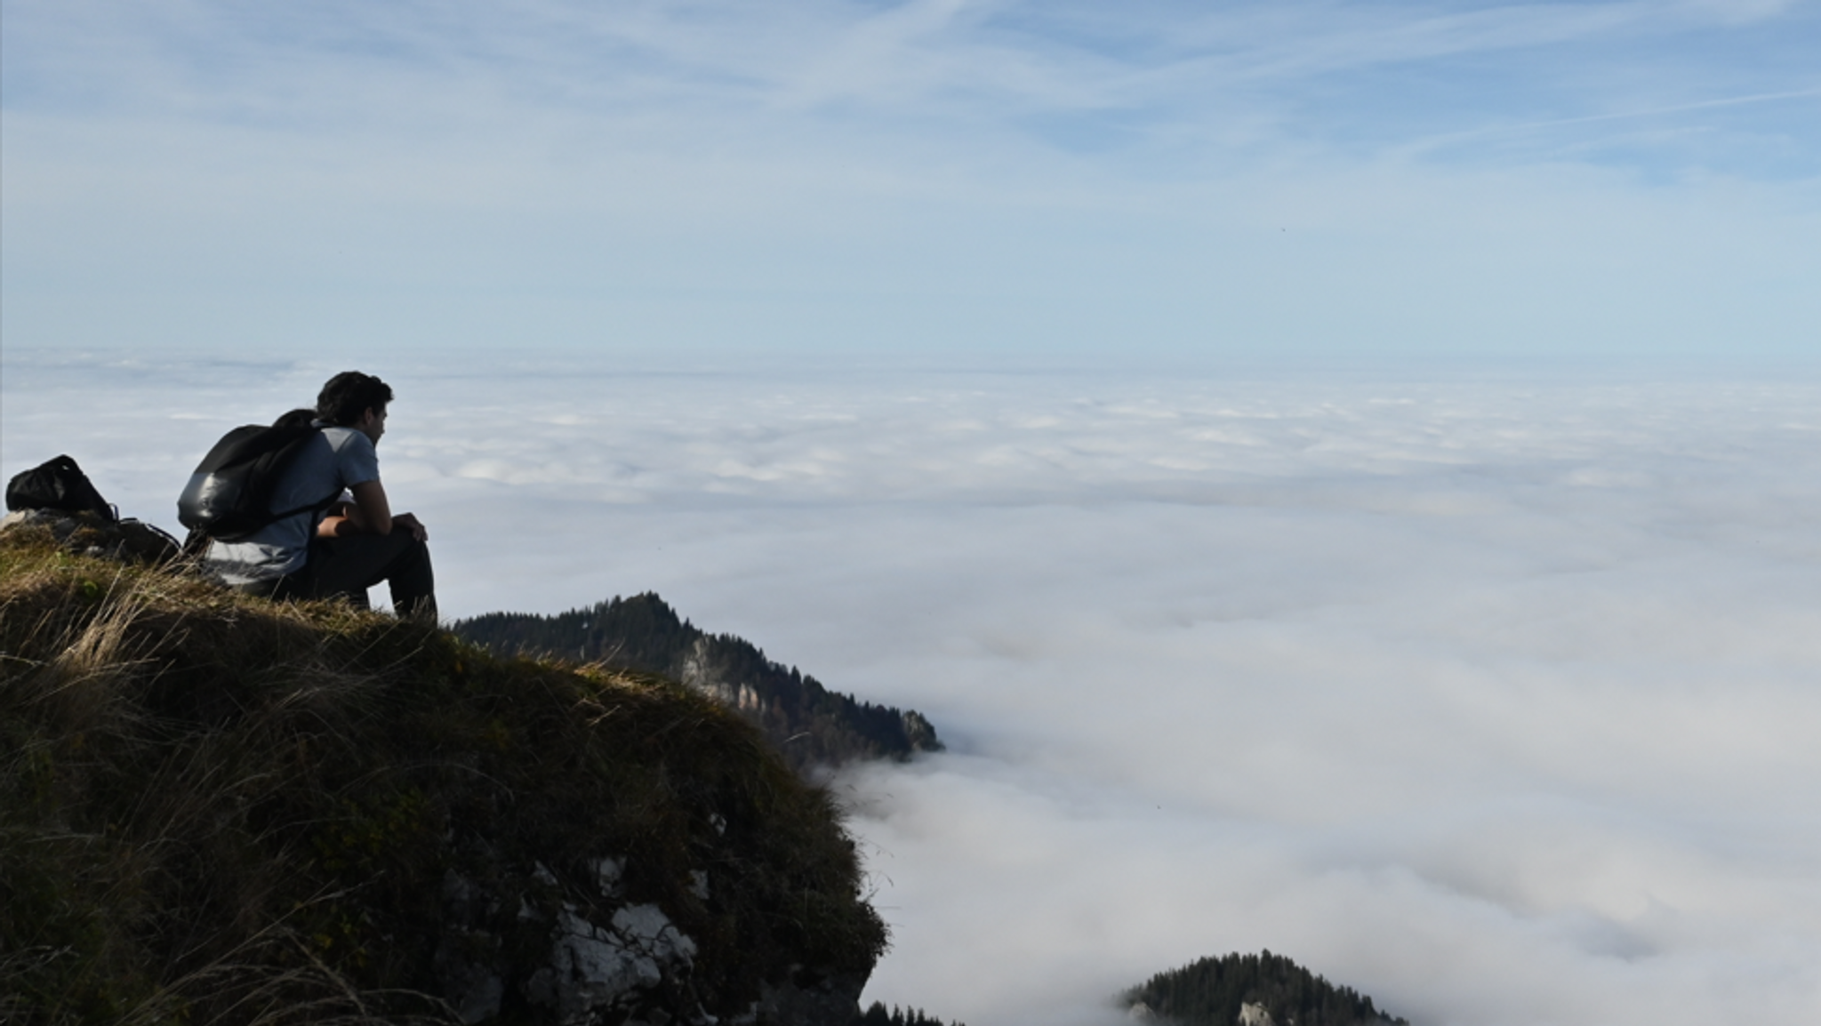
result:
M 1124 995 L 1182 1026 L 1235 1026 L 1242 1004 L 1262 1004 L 1277 1026 L 1409 1026 L 1373 1008 L 1369 997 L 1335 986 L 1282 955 L 1226 955 L 1158 973 Z

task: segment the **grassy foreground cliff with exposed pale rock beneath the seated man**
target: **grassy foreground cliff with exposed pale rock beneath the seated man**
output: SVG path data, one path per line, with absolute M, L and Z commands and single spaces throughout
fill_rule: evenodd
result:
M 827 795 L 670 680 L 0 534 L 0 1021 L 841 1024 Z

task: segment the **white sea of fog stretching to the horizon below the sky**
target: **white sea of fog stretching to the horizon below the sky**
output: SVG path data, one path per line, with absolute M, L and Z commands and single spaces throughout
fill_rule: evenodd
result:
M 122 512 L 324 361 L 7 352 Z M 1422 1026 L 1821 1022 L 1821 374 L 368 361 L 443 609 L 656 590 L 945 754 L 834 780 L 867 1000 L 1269 948 Z

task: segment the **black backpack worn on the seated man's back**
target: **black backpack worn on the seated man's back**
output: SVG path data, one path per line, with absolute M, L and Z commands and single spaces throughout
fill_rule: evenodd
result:
M 178 523 L 189 528 L 193 539 L 239 541 L 288 516 L 328 508 L 341 498 L 341 488 L 295 510 L 271 508 L 279 477 L 320 430 L 288 414 L 273 426 L 246 425 L 224 434 L 177 498 Z

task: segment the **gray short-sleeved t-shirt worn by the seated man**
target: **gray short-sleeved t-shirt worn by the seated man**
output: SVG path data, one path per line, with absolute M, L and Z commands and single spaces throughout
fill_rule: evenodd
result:
M 304 443 L 271 490 L 273 510 L 293 510 L 379 481 L 373 439 L 355 428 L 328 426 Z M 211 541 L 208 563 L 229 585 L 273 581 L 297 572 L 310 558 L 310 538 L 324 510 L 304 510 L 268 523 L 242 541 Z

